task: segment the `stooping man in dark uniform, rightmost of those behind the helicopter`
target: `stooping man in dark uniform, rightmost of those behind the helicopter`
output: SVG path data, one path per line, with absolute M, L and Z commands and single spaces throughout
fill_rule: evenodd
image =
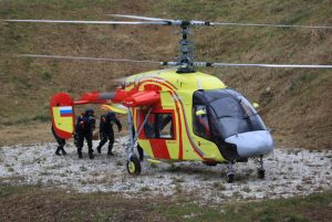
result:
M 118 131 L 122 130 L 122 125 L 113 112 L 107 112 L 106 115 L 101 116 L 101 124 L 100 124 L 101 142 L 97 146 L 98 154 L 102 154 L 102 147 L 104 146 L 104 144 L 106 144 L 108 139 L 110 142 L 108 142 L 107 155 L 114 156 L 114 154 L 112 152 L 113 144 L 114 144 L 113 124 L 116 124 Z

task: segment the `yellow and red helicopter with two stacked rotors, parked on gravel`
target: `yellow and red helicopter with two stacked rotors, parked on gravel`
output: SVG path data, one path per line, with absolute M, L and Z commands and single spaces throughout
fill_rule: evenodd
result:
M 235 179 L 234 165 L 258 158 L 258 177 L 263 179 L 263 157 L 274 149 L 270 129 L 241 93 L 227 87 L 214 75 L 195 70 L 196 66 L 220 67 L 277 67 L 277 68 L 332 68 L 315 64 L 241 64 L 211 63 L 194 60 L 194 42 L 189 28 L 194 27 L 270 27 L 293 29 L 332 29 L 288 24 L 226 23 L 196 20 L 173 20 L 128 14 L 110 14 L 139 21 L 66 21 L 66 20 L 6 20 L 8 22 L 120 24 L 120 25 L 174 25 L 180 28 L 179 55 L 174 62 L 134 61 L 102 57 L 22 54 L 19 56 L 87 60 L 108 62 L 154 63 L 170 66 L 126 77 L 114 92 L 85 93 L 74 101 L 66 93 L 58 93 L 50 101 L 52 124 L 64 139 L 75 130 L 75 106 L 102 104 L 106 110 L 127 115 L 129 144 L 127 171 L 141 173 L 142 166 L 134 147 L 138 144 L 153 160 L 201 161 L 208 166 L 227 163 L 227 181 Z M 134 128 L 134 130 L 131 130 Z M 135 133 L 135 134 L 134 134 Z

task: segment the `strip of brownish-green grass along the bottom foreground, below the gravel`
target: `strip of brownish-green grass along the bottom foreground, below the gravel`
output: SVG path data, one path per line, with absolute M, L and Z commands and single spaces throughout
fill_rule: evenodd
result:
M 144 190 L 148 192 L 148 190 Z M 123 199 L 29 186 L 0 186 L 0 220 L 13 221 L 330 221 L 332 192 L 289 200 L 198 204 L 185 199 Z M 6 205 L 6 208 L 4 208 Z M 89 210 L 86 210 L 89 209 Z

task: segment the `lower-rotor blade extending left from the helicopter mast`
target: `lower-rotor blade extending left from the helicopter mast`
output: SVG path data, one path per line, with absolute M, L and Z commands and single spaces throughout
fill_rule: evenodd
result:
M 19 57 L 55 59 L 55 60 L 85 60 L 85 61 L 129 62 L 129 63 L 154 63 L 154 64 L 160 64 L 160 62 L 156 62 L 156 61 L 122 60 L 122 59 L 108 59 L 108 57 L 82 57 L 82 56 L 39 55 L 39 54 L 20 54 L 18 56 Z

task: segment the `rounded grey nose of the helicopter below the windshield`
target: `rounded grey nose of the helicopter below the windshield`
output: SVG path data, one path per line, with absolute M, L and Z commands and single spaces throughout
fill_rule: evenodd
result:
M 225 140 L 237 146 L 238 155 L 241 158 L 267 155 L 271 152 L 274 147 L 272 136 L 268 130 L 237 134 Z

